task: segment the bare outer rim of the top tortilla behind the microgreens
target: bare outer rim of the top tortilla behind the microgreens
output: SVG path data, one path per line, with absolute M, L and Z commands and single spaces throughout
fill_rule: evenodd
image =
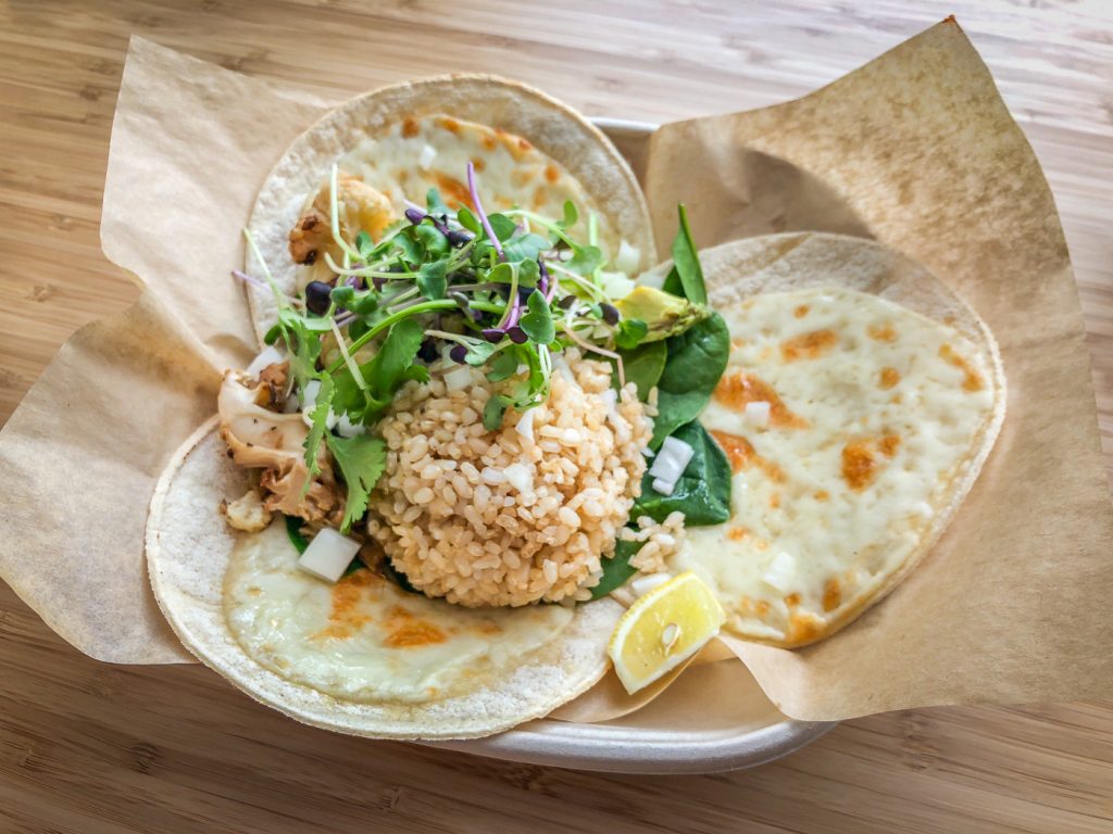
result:
M 248 222 L 283 291 L 292 294 L 296 287 L 287 235 L 333 162 L 365 138 L 380 137 L 407 119 L 430 116 L 475 122 L 526 139 L 567 171 L 608 225 L 638 248 L 637 271 L 652 266 L 656 248 L 646 198 L 610 139 L 578 112 L 532 87 L 493 76 L 455 75 L 384 87 L 354 98 L 294 141 L 263 183 Z M 415 142 L 415 148 L 421 145 Z M 462 171 L 456 173 L 462 176 Z M 424 198 L 423 193 L 407 196 L 416 202 Z M 258 272 L 249 252 L 245 266 L 248 272 Z M 247 296 L 262 344 L 275 320 L 274 298 L 268 290 L 253 287 L 247 288 Z

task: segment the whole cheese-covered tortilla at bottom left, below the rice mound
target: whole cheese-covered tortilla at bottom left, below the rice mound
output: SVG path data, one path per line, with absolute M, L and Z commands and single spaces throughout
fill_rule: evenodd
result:
M 546 715 L 595 683 L 622 607 L 600 599 L 471 609 L 359 568 L 335 585 L 295 567 L 280 520 L 217 513 L 247 475 L 215 420 L 155 489 L 147 564 L 185 646 L 239 688 L 316 726 L 382 738 L 469 738 Z

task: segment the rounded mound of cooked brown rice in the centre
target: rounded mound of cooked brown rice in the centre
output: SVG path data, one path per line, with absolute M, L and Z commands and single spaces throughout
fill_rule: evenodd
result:
M 395 398 L 367 528 L 414 587 L 473 607 L 590 598 L 641 490 L 652 429 L 632 385 L 609 400 L 609 365 L 562 356 L 548 403 L 532 417 L 508 411 L 498 431 L 483 427 L 496 386 L 479 371 L 462 388 L 434 377 Z

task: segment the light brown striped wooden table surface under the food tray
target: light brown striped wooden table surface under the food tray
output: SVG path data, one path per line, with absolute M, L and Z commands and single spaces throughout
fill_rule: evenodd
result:
M 1057 198 L 1113 459 L 1104 0 L 0 2 L 0 420 L 77 327 L 136 298 L 98 242 L 132 32 L 329 93 L 489 70 L 589 115 L 668 120 L 802 95 L 949 12 Z M 328 735 L 203 667 L 99 664 L 0 586 L 0 832 L 525 828 L 1111 832 L 1113 705 L 903 712 L 848 722 L 749 772 L 581 774 Z

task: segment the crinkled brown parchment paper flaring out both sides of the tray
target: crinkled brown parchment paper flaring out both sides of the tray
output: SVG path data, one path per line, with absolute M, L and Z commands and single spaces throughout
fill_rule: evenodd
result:
M 0 576 L 62 637 L 120 663 L 190 659 L 144 575 L 169 454 L 255 353 L 228 270 L 267 170 L 331 102 L 134 40 L 101 238 L 146 285 L 80 330 L 0 433 Z M 729 102 L 725 102 L 729 106 Z M 736 645 L 787 714 L 1107 695 L 1113 512 L 1089 354 L 1046 182 L 953 22 L 796 102 L 662 127 L 644 156 L 659 240 L 820 229 L 925 261 L 1001 341 L 1009 414 L 935 552 L 814 648 Z M 664 255 L 664 252 L 662 252 Z

